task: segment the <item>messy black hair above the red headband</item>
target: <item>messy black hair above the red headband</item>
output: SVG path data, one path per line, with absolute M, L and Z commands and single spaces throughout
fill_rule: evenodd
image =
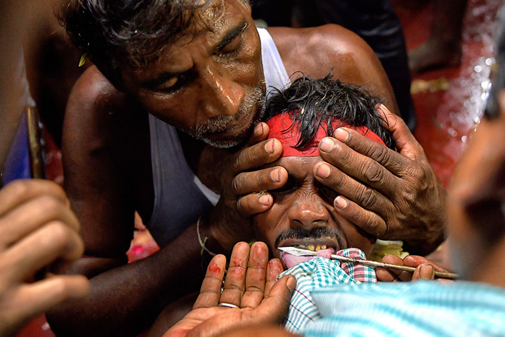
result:
M 302 76 L 288 88 L 274 90 L 277 92 L 267 102 L 265 121 L 287 113 L 293 120 L 288 130 L 299 122 L 300 138 L 294 146 L 296 149 L 304 148 L 320 125 L 324 124 L 327 135 L 331 136 L 333 119 L 339 119 L 341 125 L 366 126 L 388 148 L 394 149 L 394 139 L 383 125 L 384 118 L 377 112 L 382 100 L 362 86 L 333 80 L 330 72 L 322 79 Z

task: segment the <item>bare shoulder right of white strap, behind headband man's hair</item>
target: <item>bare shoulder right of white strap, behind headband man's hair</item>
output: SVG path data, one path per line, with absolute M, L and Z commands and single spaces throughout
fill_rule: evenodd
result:
M 334 24 L 312 28 L 272 27 L 268 31 L 289 75 L 300 71 L 321 78 L 333 69 L 334 78 L 365 85 L 393 113 L 397 112 L 391 85 L 379 59 L 357 34 Z

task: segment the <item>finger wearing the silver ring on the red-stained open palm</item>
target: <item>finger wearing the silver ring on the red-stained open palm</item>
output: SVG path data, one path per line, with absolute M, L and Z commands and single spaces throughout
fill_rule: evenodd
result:
M 230 303 L 240 306 L 240 300 L 245 291 L 245 272 L 249 261 L 249 245 L 239 242 L 233 247 L 230 266 L 226 273 L 224 289 L 219 299 L 220 303 Z

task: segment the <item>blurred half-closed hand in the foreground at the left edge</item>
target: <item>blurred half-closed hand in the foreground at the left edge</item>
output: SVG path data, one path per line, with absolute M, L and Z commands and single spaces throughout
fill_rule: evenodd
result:
M 50 181 L 15 181 L 0 190 L 0 335 L 89 291 L 84 276 L 55 274 L 84 250 L 69 205 Z

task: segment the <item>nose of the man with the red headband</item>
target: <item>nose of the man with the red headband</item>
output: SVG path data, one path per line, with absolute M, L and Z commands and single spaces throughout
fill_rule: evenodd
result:
M 311 230 L 324 227 L 330 217 L 324 201 L 316 194 L 307 194 L 297 198 L 288 210 L 289 225 Z

